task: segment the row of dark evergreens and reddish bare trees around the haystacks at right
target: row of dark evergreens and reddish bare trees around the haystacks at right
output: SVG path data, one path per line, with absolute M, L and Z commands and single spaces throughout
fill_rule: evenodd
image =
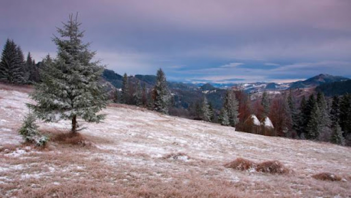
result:
M 247 103 L 250 105 L 250 103 Z M 351 95 L 334 96 L 327 100 L 324 94 L 318 92 L 306 98 L 302 97 L 300 103 L 296 102 L 292 91 L 287 95 L 278 95 L 272 99 L 264 93 L 258 101 L 251 102 L 251 107 L 243 108 L 240 114 L 254 114 L 261 123 L 268 117 L 274 129 L 269 135 L 283 136 L 298 139 L 309 139 L 333 142 L 340 145 L 351 145 Z M 240 109 L 240 108 L 239 108 Z M 267 130 L 244 116 L 239 123 L 239 130 L 259 133 Z M 264 131 L 266 132 L 266 131 Z M 261 133 L 262 134 L 262 133 Z

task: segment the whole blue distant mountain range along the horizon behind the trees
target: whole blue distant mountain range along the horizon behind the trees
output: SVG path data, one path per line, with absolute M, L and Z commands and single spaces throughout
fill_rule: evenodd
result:
M 112 70 L 105 70 L 103 73 L 104 80 L 110 82 L 116 88 L 121 88 L 123 77 Z M 151 89 L 156 83 L 155 75 L 135 75 L 128 76 L 131 83 L 135 83 L 137 80 L 141 84 L 145 84 L 147 89 Z M 222 107 L 222 99 L 226 94 L 227 89 L 234 88 L 245 90 L 247 93 L 251 94 L 251 98 L 259 97 L 262 92 L 267 91 L 270 94 L 284 94 L 284 90 L 289 88 L 306 88 L 305 90 L 295 90 L 296 97 L 302 97 L 312 91 L 313 88 L 321 84 L 328 86 L 321 86 L 320 89 L 326 93 L 330 92 L 332 95 L 334 92 L 331 90 L 339 89 L 339 86 L 345 87 L 343 90 L 348 90 L 351 81 L 346 81 L 347 78 L 339 76 L 331 76 L 327 74 L 320 74 L 318 76 L 309 78 L 305 81 L 297 81 L 293 83 L 245 83 L 245 84 L 191 84 L 191 83 L 181 83 L 181 82 L 167 82 L 168 88 L 173 95 L 173 105 L 176 108 L 189 108 L 191 104 L 196 102 L 201 102 L 204 96 L 207 97 L 208 101 L 211 102 L 215 109 L 220 109 Z M 330 82 L 338 82 L 332 84 Z M 348 86 L 348 87 L 347 87 Z M 330 88 L 332 87 L 332 88 Z M 348 88 L 348 89 L 347 89 Z M 326 90 L 326 91 L 324 91 Z M 329 90 L 329 91 L 327 91 Z M 307 91 L 307 92 L 306 92 Z M 285 91 L 286 92 L 286 91 Z M 348 91 L 351 93 L 351 91 Z M 294 92 L 295 93 L 295 92 Z M 329 95 L 329 94 L 326 94 Z

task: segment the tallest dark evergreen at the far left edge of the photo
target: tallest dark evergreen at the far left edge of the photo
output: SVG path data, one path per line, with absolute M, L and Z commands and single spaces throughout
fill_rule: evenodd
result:
M 6 41 L 1 56 L 0 81 L 12 84 L 27 83 L 22 50 L 10 39 Z

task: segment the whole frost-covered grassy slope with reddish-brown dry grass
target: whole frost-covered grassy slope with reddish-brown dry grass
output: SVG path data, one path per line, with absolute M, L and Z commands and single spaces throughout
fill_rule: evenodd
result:
M 7 85 L 6 85 L 7 86 Z M 45 149 L 22 145 L 29 89 L 0 84 L 0 197 L 347 197 L 351 149 L 267 137 L 232 127 L 110 105 L 104 123 L 38 123 L 52 137 Z M 9 108 L 11 107 L 11 108 Z M 61 135 L 61 136 L 60 136 Z M 81 140 L 93 146 L 76 143 Z M 78 141 L 79 140 L 79 141 Z M 242 157 L 279 160 L 289 174 L 241 171 L 224 164 Z M 331 172 L 340 181 L 314 179 Z

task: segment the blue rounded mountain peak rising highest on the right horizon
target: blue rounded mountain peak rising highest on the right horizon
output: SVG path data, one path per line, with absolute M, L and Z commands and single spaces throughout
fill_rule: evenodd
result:
M 332 76 L 329 74 L 319 74 L 312 78 L 309 78 L 304 81 L 297 81 L 290 85 L 291 89 L 295 88 L 310 88 L 310 87 L 317 87 L 323 83 L 333 83 L 333 82 L 340 82 L 349 80 L 348 78 L 341 77 L 341 76 Z

